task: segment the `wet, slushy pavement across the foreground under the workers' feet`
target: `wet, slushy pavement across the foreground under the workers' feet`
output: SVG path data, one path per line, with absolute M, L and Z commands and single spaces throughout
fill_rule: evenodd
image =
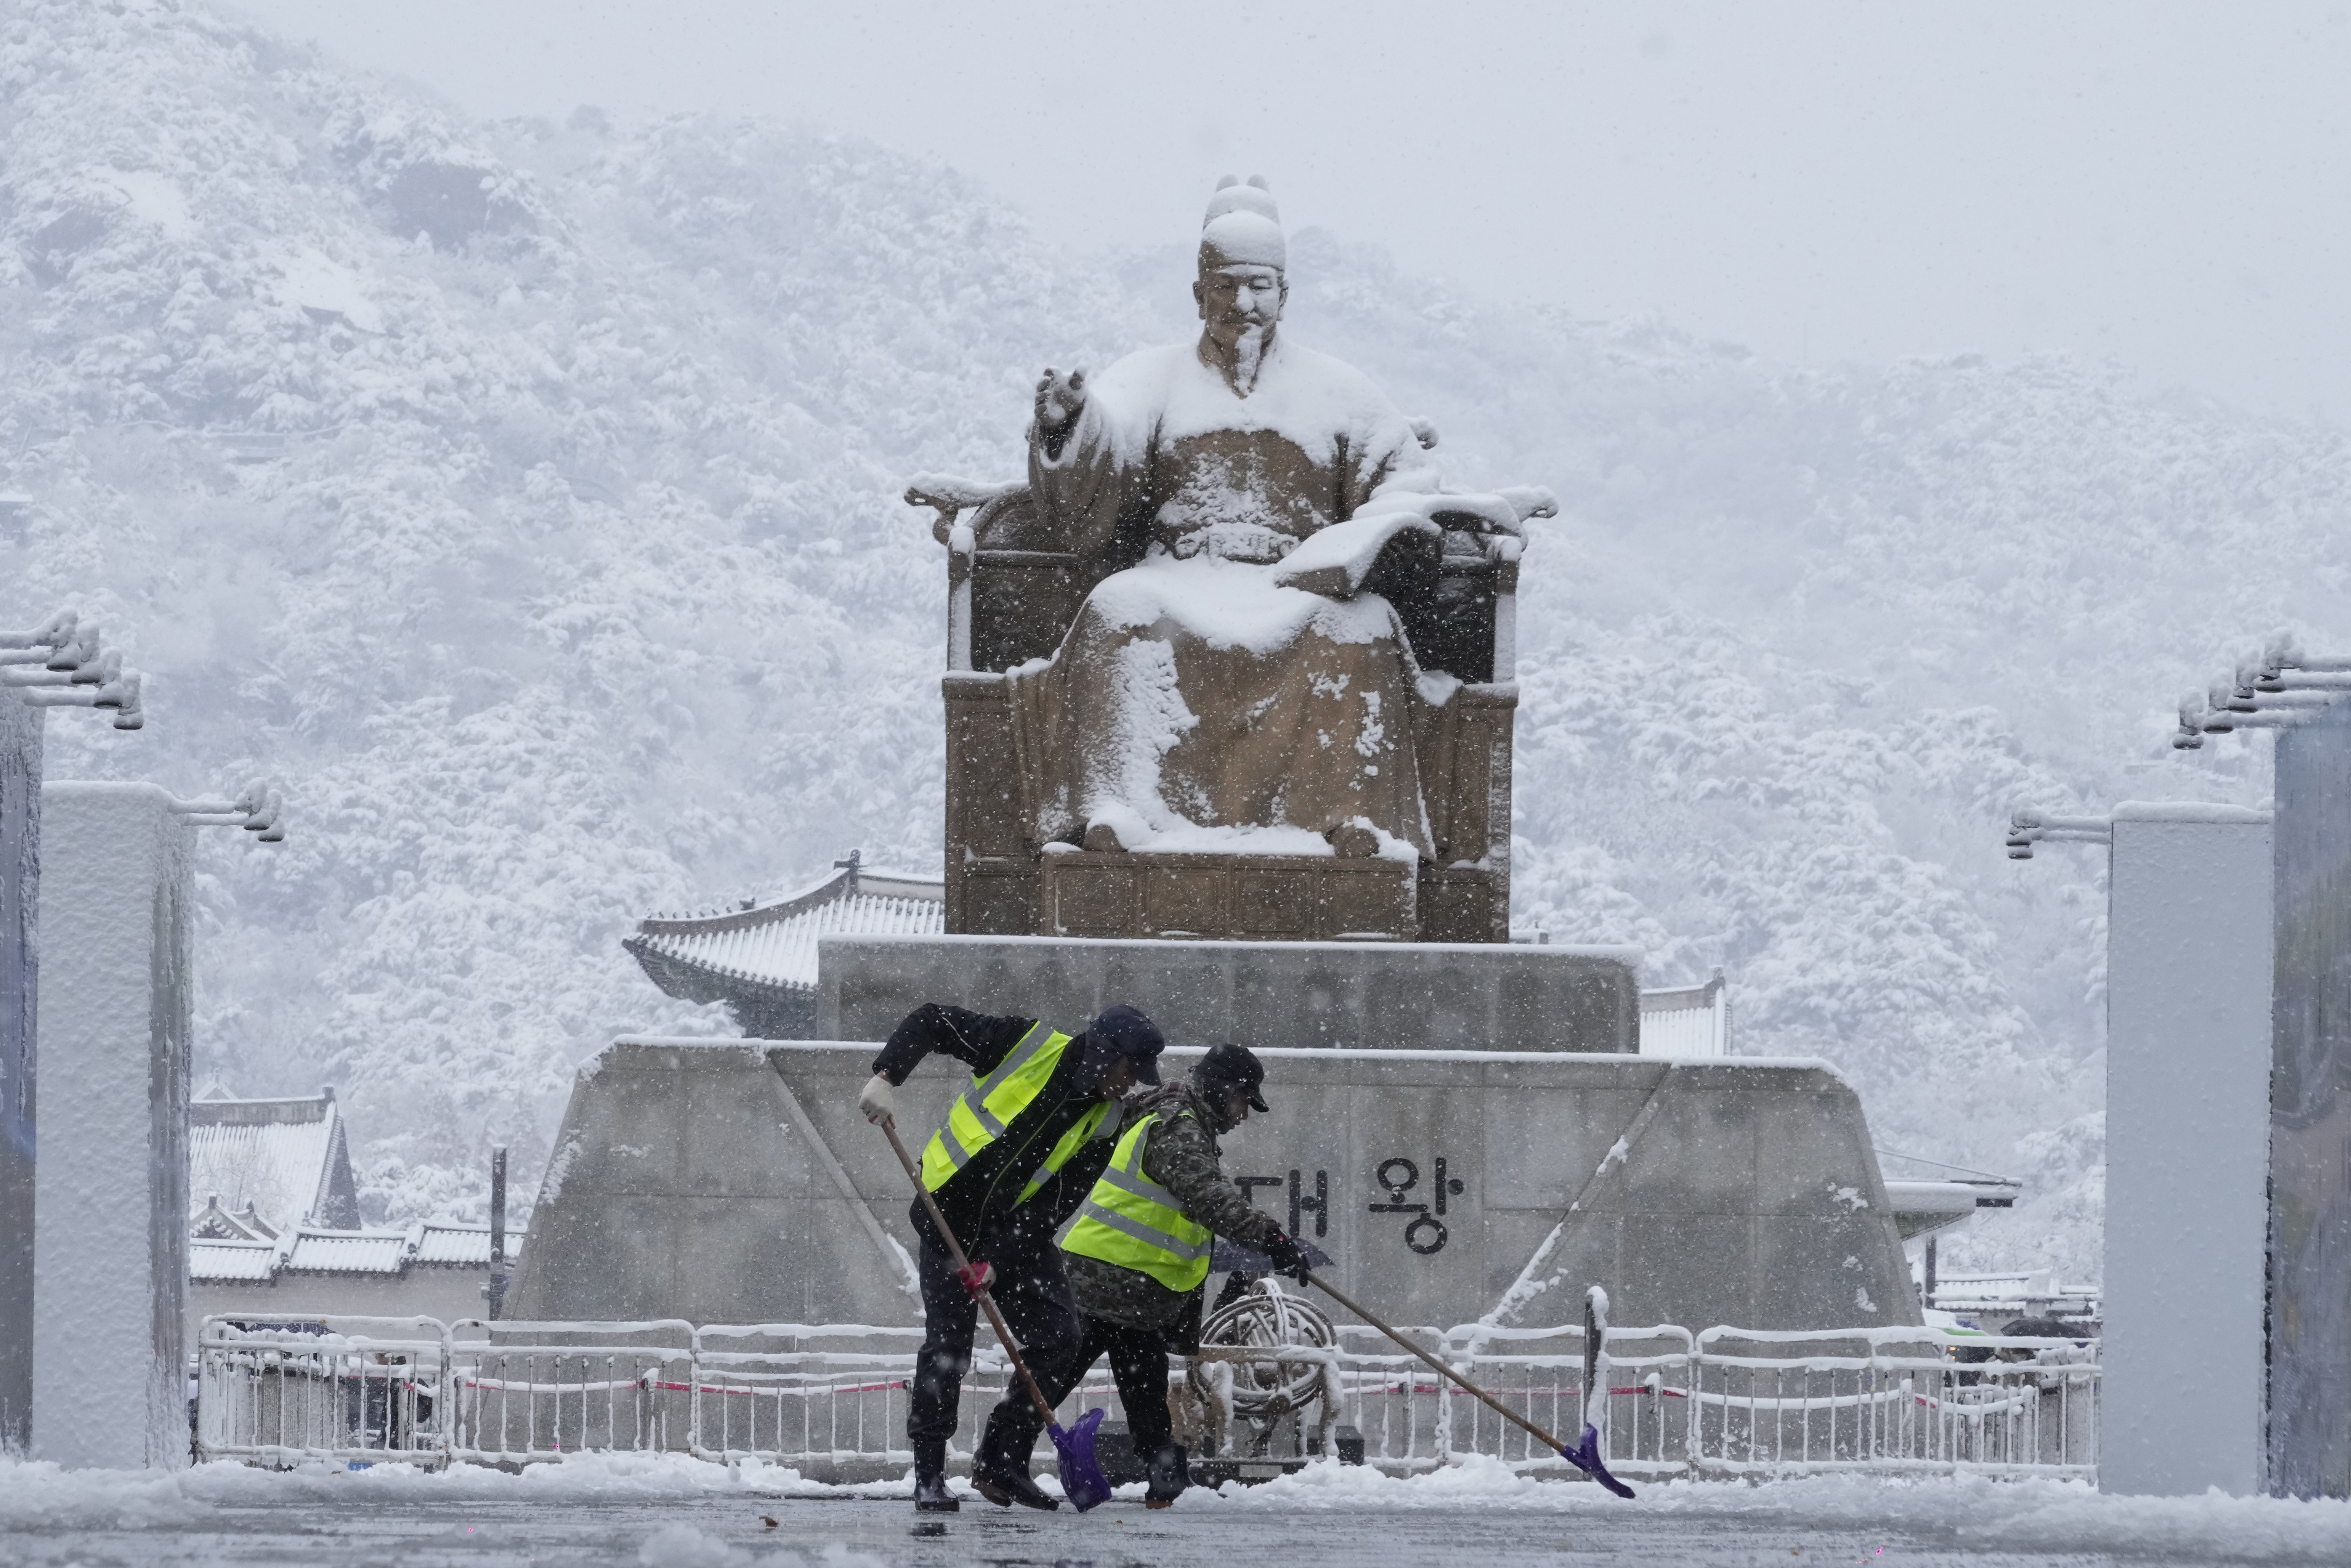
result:
M 1585 1490 L 1585 1488 L 1578 1488 Z M 2339 1519 L 2297 1516 L 2295 1528 L 2233 1530 L 2201 1505 L 2165 1523 L 2114 1500 L 1984 1507 L 1982 1495 L 1937 1500 L 1888 1493 L 1883 1521 L 1850 1488 L 1773 1500 L 1756 1488 L 1676 1488 L 1660 1507 L 1542 1500 L 1371 1507 L 1361 1500 L 1279 1502 L 1192 1497 L 1147 1512 L 1110 1502 L 1086 1516 L 999 1512 L 966 1502 L 952 1516 L 917 1516 L 905 1502 L 846 1497 L 289 1497 L 212 1502 L 150 1523 L 19 1521 L 0 1533 L 9 1568 L 315 1563 L 327 1568 L 475 1568 L 550 1563 L 632 1568 L 823 1568 L 1023 1563 L 1051 1568 L 1420 1568 L 1458 1563 L 2342 1563 L 2351 1535 Z M 1947 1505 L 1949 1502 L 1949 1505 Z M 2224 1509 L 2259 1507 L 2210 1500 Z M 2170 1507 L 2170 1505 L 2156 1505 Z M 2292 1507 L 2292 1505 L 2278 1505 Z M 2323 1507 L 2323 1505 L 2320 1505 Z M 2034 1521 L 2038 1519 L 2038 1526 Z M 2020 1528 L 2022 1526 L 2022 1528 Z M 1998 1537 L 2008 1540 L 1998 1540 Z M 2106 1537 L 2106 1540 L 2102 1540 Z M 2238 1554 L 2243 1552 L 2243 1556 Z

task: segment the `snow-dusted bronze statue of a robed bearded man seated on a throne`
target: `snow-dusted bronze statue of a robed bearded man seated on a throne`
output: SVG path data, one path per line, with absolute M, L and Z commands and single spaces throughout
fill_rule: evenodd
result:
M 1505 940 L 1552 498 L 1446 491 L 1434 430 L 1284 334 L 1262 181 L 1211 197 L 1192 294 L 1194 343 L 1044 374 L 1025 487 L 907 491 L 955 550 L 950 665 L 997 672 L 947 679 L 950 929 Z

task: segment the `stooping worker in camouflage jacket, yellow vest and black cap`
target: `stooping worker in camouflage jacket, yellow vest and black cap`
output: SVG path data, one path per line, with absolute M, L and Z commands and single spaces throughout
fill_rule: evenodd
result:
M 1145 1505 L 1164 1509 L 1192 1483 L 1168 1420 L 1168 1354 L 1199 1349 L 1201 1295 L 1215 1237 L 1305 1276 L 1307 1253 L 1225 1180 L 1218 1135 L 1265 1110 L 1265 1067 L 1244 1046 L 1211 1046 L 1183 1084 L 1138 1095 L 1119 1143 L 1060 1251 L 1086 1319 L 1084 1340 L 1034 1359 L 1044 1396 L 1060 1403 L 1110 1356 L 1126 1432 L 1145 1465 Z M 978 1465 L 1027 1469 L 1039 1415 L 1011 1394 L 987 1413 Z

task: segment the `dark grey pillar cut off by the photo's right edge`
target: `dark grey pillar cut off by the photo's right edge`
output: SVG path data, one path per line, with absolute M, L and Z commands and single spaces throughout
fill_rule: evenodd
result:
M 2351 1497 L 2351 708 L 2278 731 L 2269 1490 Z

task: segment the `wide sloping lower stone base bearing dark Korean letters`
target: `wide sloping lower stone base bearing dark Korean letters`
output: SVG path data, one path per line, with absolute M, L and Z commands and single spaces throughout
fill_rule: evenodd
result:
M 915 1324 L 905 1173 L 856 1110 L 872 1041 L 621 1039 L 557 1133 L 513 1319 Z M 1168 1074 L 1197 1060 L 1171 1046 Z M 1225 1173 L 1396 1324 L 1916 1324 L 1860 1100 L 1824 1065 L 1267 1048 Z M 971 1079 L 924 1063 L 919 1143 Z M 1211 1291 L 1218 1281 L 1211 1281 Z M 1342 1316 L 1342 1314 L 1340 1314 Z M 828 1345 L 842 1349 L 844 1345 Z

